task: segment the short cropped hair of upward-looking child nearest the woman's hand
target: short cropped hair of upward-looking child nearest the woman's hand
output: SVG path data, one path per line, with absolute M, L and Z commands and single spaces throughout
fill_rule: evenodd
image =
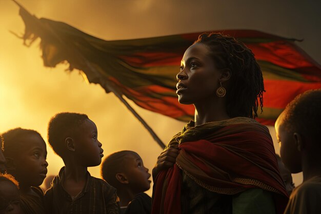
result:
M 137 153 L 129 150 L 118 151 L 108 155 L 102 163 L 101 174 L 103 179 L 116 188 L 120 184 L 115 177 L 116 173 L 124 172 L 124 160 L 128 154 Z

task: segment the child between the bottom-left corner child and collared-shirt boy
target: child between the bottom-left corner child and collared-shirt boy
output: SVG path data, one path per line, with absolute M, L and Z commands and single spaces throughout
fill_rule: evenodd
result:
M 44 192 L 39 187 L 46 178 L 47 149 L 34 130 L 15 128 L 3 134 L 4 156 L 9 174 L 19 182 L 21 208 L 26 213 L 45 213 Z

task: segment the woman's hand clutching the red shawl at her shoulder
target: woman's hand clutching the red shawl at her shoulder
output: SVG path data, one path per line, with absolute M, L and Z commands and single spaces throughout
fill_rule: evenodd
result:
M 178 146 L 169 147 L 157 158 L 156 166 L 153 168 L 153 180 L 156 178 L 157 174 L 162 171 L 163 169 L 167 169 L 173 167 L 176 162 L 176 157 L 178 155 Z

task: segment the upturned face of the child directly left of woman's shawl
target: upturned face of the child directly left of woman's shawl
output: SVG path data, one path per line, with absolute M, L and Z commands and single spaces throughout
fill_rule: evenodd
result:
M 134 193 L 138 194 L 150 188 L 149 178 L 151 175 L 138 154 L 129 153 L 126 155 L 125 167 L 128 184 Z

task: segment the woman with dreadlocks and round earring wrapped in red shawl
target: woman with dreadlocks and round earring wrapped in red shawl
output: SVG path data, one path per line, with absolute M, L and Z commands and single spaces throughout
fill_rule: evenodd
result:
M 176 134 L 153 169 L 152 213 L 283 213 L 287 193 L 268 129 L 254 54 L 223 34 L 204 33 L 177 74 L 181 104 L 195 120 Z

